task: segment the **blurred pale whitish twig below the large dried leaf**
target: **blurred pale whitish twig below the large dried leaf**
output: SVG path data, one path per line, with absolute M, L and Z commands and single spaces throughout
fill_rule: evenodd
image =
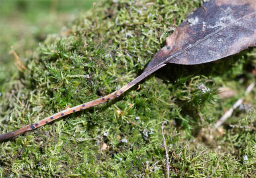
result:
M 254 89 L 255 83 L 250 84 L 243 97 L 239 98 L 235 104 L 232 106 L 232 108 L 230 108 L 214 125 L 214 128 L 217 129 L 218 127 L 220 127 L 233 113 L 233 111 L 243 102 L 243 98 L 245 97 L 245 95 L 247 95 L 248 93 L 250 93 L 253 89 Z

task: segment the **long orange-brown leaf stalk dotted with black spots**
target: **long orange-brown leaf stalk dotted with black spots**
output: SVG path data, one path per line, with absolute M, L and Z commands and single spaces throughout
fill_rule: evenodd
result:
M 83 103 L 83 104 L 80 104 L 80 105 L 77 105 L 77 106 L 74 106 L 72 108 L 65 109 L 65 110 L 60 111 L 58 113 L 55 113 L 55 114 L 53 114 L 53 115 L 51 115 L 51 116 L 49 116 L 45 119 L 42 119 L 42 120 L 40 120 L 36 123 L 33 123 L 31 125 L 27 125 L 27 126 L 21 128 L 21 129 L 17 130 L 17 131 L 12 131 L 12 132 L 9 132 L 9 133 L 6 133 L 6 134 L 0 134 L 0 141 L 18 136 L 19 134 L 23 134 L 27 131 L 35 130 L 35 129 L 37 129 L 39 127 L 42 127 L 42 126 L 44 126 L 44 125 L 46 125 L 46 124 L 48 124 L 48 123 L 50 123 L 50 122 L 52 122 L 52 121 L 54 121 L 58 118 L 61 118 L 63 116 L 66 116 L 66 115 L 69 115 L 71 113 L 84 110 L 84 109 L 92 107 L 92 106 L 99 105 L 101 103 L 109 101 L 110 99 L 119 97 L 122 93 L 124 93 L 125 91 L 127 91 L 128 89 L 130 89 L 131 87 L 136 85 L 138 82 L 142 81 L 144 78 L 146 78 L 147 76 L 152 74 L 154 71 L 158 70 L 159 68 L 163 67 L 164 65 L 165 64 L 160 64 L 160 65 L 155 66 L 151 70 L 144 71 L 140 76 L 138 76 L 136 79 L 134 79 L 129 84 L 125 85 L 121 89 L 119 89 L 117 91 L 114 91 L 114 92 L 112 92 L 112 93 L 110 93 L 106 96 L 103 96 L 101 98 L 98 98 L 98 99 L 95 99 L 93 101 L 89 101 L 89 102 L 86 102 L 86 103 Z

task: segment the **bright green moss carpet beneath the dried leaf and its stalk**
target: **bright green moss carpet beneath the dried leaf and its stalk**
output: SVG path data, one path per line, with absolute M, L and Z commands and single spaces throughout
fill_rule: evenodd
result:
M 200 4 L 101 1 L 59 35 L 48 35 L 37 48 L 30 46 L 34 52 L 22 52 L 26 45 L 14 46 L 26 59 L 26 70 L 12 70 L 14 64 L 6 61 L 13 57 L 5 55 L 1 133 L 127 84 Z M 255 48 L 204 65 L 167 65 L 142 81 L 140 89 L 136 85 L 112 102 L 0 143 L 0 176 L 165 177 L 161 123 L 166 121 L 171 177 L 254 177 L 256 90 L 245 98 L 249 111 L 236 110 L 222 133 L 210 130 L 256 81 L 255 66 Z M 13 75 L 7 77 L 6 71 Z M 198 87 L 202 84 L 209 89 L 205 93 Z M 237 94 L 219 99 L 219 87 Z

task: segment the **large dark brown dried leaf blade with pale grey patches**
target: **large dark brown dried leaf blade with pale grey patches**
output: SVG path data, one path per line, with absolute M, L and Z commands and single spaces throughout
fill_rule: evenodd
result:
M 210 0 L 166 38 L 145 71 L 163 63 L 202 64 L 250 46 L 256 46 L 256 0 Z

